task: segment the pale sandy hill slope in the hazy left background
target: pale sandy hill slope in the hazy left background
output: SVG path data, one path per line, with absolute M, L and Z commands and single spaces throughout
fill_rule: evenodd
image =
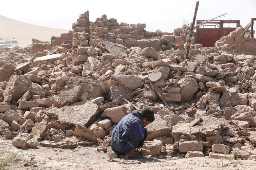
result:
M 16 38 L 21 47 L 32 43 L 32 38 L 50 41 L 51 36 L 60 36 L 61 33 L 68 32 L 66 29 L 37 26 L 0 15 L 0 38 Z

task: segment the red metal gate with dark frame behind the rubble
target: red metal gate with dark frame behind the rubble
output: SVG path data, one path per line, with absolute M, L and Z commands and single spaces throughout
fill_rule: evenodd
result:
M 206 21 L 206 20 L 197 20 L 197 24 Z M 207 22 L 209 25 L 206 26 L 215 26 L 215 28 L 200 28 L 197 26 L 196 32 L 196 43 L 203 44 L 203 47 L 213 47 L 215 42 L 222 38 L 225 35 L 228 35 L 230 32 L 240 26 L 240 20 L 214 20 Z M 236 27 L 224 28 L 224 23 L 236 23 Z M 211 25 L 215 24 L 215 25 Z M 218 26 L 219 28 L 216 28 Z

